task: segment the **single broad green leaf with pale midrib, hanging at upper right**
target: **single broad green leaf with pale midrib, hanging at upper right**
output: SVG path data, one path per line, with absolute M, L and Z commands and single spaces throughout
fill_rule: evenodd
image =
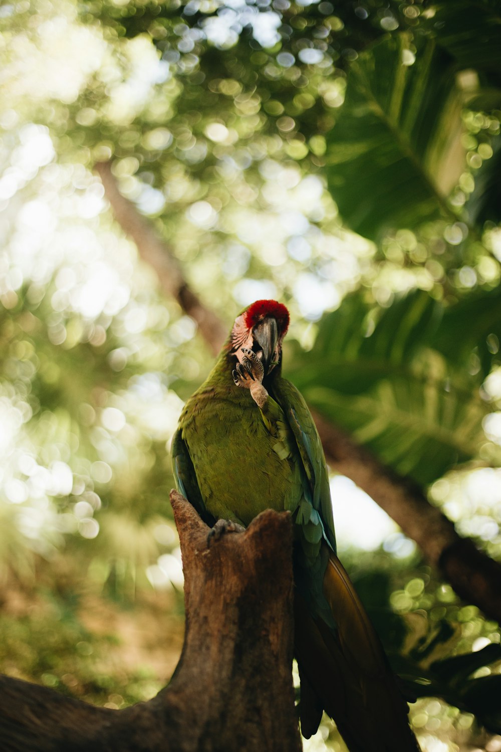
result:
M 326 154 L 329 190 L 355 232 L 376 239 L 441 213 L 456 218 L 445 196 L 463 170 L 456 158 L 452 174 L 448 159 L 461 105 L 454 60 L 431 39 L 401 33 L 358 57 Z

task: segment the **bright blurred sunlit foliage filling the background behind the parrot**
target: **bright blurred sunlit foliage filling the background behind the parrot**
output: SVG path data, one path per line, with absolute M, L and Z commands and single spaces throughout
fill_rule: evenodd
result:
M 403 32 L 400 68 L 418 65 L 412 30 L 425 38 L 433 15 L 419 2 L 335 6 L 20 0 L 0 8 L 0 668 L 8 675 L 122 708 L 166 684 L 183 639 L 170 441 L 212 356 L 114 219 L 96 162 L 112 160 L 122 196 L 228 327 L 255 299 L 287 303 L 285 374 L 289 365 L 298 384 L 306 379 L 317 408 L 330 384 L 327 355 L 315 356 L 325 312 L 340 311 L 334 327 L 344 320 L 360 332 L 363 322 L 370 340 L 404 293 L 425 291 L 447 306 L 499 284 L 501 229 L 485 221 L 477 196 L 489 179 L 477 175 L 496 159 L 499 102 L 472 100 L 475 70 L 457 77 L 456 99 L 434 93 L 448 102 L 437 117 L 448 138 L 430 136 L 424 162 L 436 168 L 442 214 L 433 216 L 416 182 L 421 215 L 402 210 L 392 226 L 370 158 L 367 176 L 356 167 L 364 144 L 340 156 L 330 131 L 351 129 L 340 113 L 352 106 L 347 71 L 364 48 Z M 361 193 L 349 205 L 336 180 L 352 163 Z M 381 226 L 371 234 L 370 197 L 379 192 Z M 351 293 L 367 307 L 353 324 L 343 319 Z M 347 387 L 346 410 L 366 416 L 348 423 L 361 441 L 396 442 L 383 456 L 400 472 L 415 471 L 398 462 L 405 451 L 415 456 L 421 439 L 450 445 L 457 459 L 445 477 L 423 478 L 430 499 L 499 559 L 501 364 L 494 329 L 489 337 L 487 378 L 467 381 L 483 372 L 481 353 L 469 353 L 459 407 L 442 408 L 435 393 L 414 404 L 383 381 L 377 393 Z M 440 358 L 423 356 L 421 381 L 433 373 L 451 383 Z M 458 418 L 445 414 L 461 405 Z M 403 426 L 396 439 L 385 434 L 391 421 Z M 405 448 L 404 436 L 419 441 Z M 407 653 L 421 640 L 429 665 L 499 643 L 499 626 L 461 604 L 367 494 L 341 476 L 331 490 L 343 560 L 363 596 L 380 586 L 403 617 Z M 448 632 L 437 638 L 442 623 Z M 501 736 L 484 735 L 471 713 L 441 700 L 420 699 L 411 715 L 424 752 L 501 750 Z M 327 719 L 304 748 L 345 749 Z

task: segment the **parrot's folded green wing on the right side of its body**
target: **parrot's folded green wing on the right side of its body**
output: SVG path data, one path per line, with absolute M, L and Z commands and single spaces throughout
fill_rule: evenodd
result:
M 329 477 L 320 437 L 301 393 L 284 378 L 273 381 L 273 397 L 279 403 L 294 435 L 308 479 L 311 503 L 321 518 L 322 529 L 330 547 L 336 550 Z

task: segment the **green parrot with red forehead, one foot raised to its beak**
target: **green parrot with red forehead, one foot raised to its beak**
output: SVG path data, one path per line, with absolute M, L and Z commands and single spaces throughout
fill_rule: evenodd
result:
M 294 521 L 294 655 L 303 736 L 325 710 L 351 752 L 416 752 L 408 705 L 336 556 L 324 453 L 312 415 L 282 378 L 285 305 L 258 300 L 234 322 L 186 402 L 172 456 L 178 490 L 220 535 L 267 508 Z M 228 520 L 228 522 L 222 522 Z

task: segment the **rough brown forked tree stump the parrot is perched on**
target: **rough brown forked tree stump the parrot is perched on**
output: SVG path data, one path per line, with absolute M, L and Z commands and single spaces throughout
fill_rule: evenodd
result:
M 300 752 L 294 688 L 292 529 L 268 510 L 246 532 L 209 528 L 171 492 L 186 635 L 171 683 L 122 711 L 0 677 L 2 752 Z

